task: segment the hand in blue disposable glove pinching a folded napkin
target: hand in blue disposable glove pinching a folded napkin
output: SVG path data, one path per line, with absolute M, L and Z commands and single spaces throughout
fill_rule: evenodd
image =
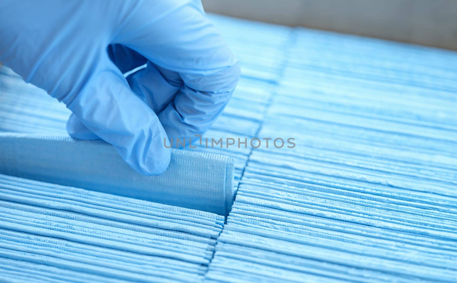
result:
M 73 112 L 71 136 L 142 174 L 165 171 L 164 139 L 207 130 L 239 79 L 200 1 L 1 0 L 0 38 L 0 62 Z

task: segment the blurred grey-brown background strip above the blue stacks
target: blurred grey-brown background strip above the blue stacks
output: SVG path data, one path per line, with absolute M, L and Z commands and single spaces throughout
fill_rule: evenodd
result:
M 202 0 L 205 11 L 457 50 L 457 0 Z

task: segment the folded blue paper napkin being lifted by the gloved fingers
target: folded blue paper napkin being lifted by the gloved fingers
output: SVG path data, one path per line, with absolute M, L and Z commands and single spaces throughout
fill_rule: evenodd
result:
M 133 171 L 103 141 L 27 133 L 0 133 L 0 173 L 97 192 L 228 215 L 234 160 L 173 150 L 160 176 Z

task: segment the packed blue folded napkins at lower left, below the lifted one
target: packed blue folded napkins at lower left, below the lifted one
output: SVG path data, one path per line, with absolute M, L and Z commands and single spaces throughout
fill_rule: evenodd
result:
M 223 216 L 0 174 L 0 279 L 197 282 Z

